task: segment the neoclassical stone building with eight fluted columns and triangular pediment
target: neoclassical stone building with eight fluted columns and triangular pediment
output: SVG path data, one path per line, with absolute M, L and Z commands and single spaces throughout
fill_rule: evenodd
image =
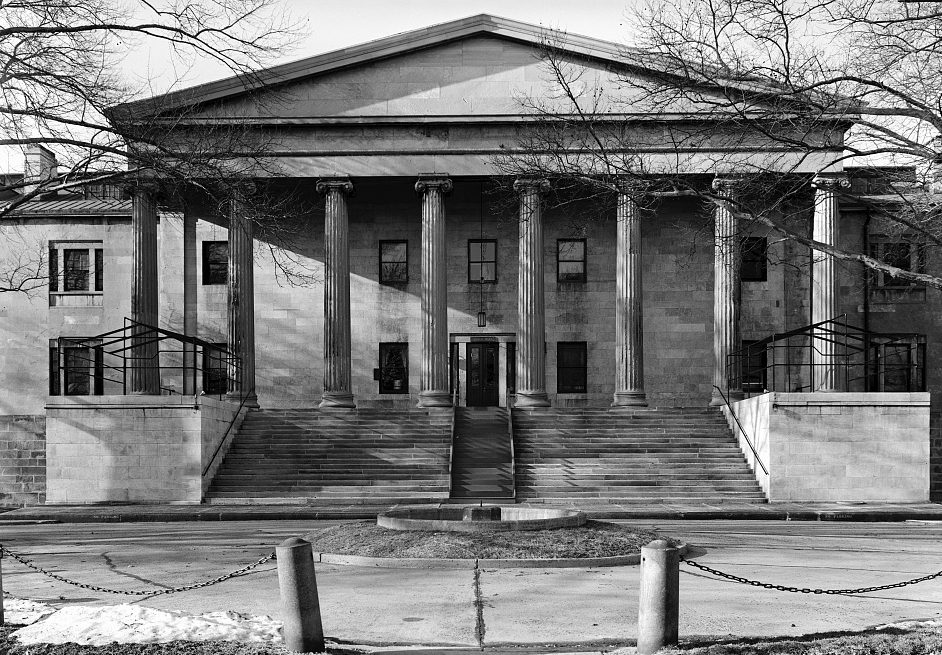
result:
M 272 238 L 238 198 L 220 215 L 167 203 L 146 184 L 86 203 L 91 213 L 78 210 L 78 199 L 20 212 L 19 228 L 43 240 L 55 262 L 55 288 L 48 303 L 0 300 L 13 318 L 2 411 L 21 417 L 7 420 L 5 434 L 9 443 L 32 435 L 37 455 L 20 448 L 20 466 L 35 469 L 35 479 L 0 476 L 0 491 L 13 502 L 44 494 L 57 503 L 199 502 L 238 439 L 245 407 L 261 408 L 250 416 L 386 408 L 394 423 L 395 410 L 416 406 L 430 416 L 491 406 L 560 420 L 579 415 L 575 408 L 630 417 L 713 406 L 749 423 L 730 425 L 771 500 L 927 498 L 926 392 L 942 383 L 933 365 L 942 354 L 938 293 L 894 289 L 823 253 L 742 234 L 723 202 L 652 202 L 647 188 L 627 181 L 608 199 L 559 202 L 545 179 L 495 179 L 495 158 L 527 129 L 516 99 L 547 93 L 544 37 L 534 26 L 477 16 L 266 71 L 252 94 L 240 80 L 222 80 L 125 107 L 152 120 L 157 106 L 195 130 L 253 126 L 270 141 L 278 174 L 246 179 L 243 199 L 263 183 L 290 188 L 300 228 Z M 563 51 L 599 79 L 644 74 L 614 44 L 570 35 Z M 183 118 L 174 113 L 184 110 Z M 657 146 L 652 122 L 637 129 L 651 131 L 640 140 L 650 140 L 646 156 L 656 164 L 676 153 Z M 863 210 L 839 204 L 851 172 L 823 156 L 764 148 L 741 161 L 815 177 L 807 207 L 815 239 L 878 241 Z M 732 199 L 741 171 L 718 170 L 717 152 L 706 144 L 686 153 L 681 173 Z M 285 261 L 304 272 L 304 284 L 286 279 Z M 837 352 L 846 343 L 823 333 L 804 360 L 771 345 L 753 354 L 761 369 L 792 366 L 794 381 L 730 374 L 738 370 L 730 355 L 744 344 L 842 315 L 873 332 L 910 335 L 906 366 L 916 374 L 904 384 L 884 367 L 851 388 Z M 125 317 L 163 332 L 122 332 L 133 354 L 119 364 L 108 333 Z M 174 339 L 178 354 L 161 350 Z M 744 386 L 753 398 L 737 405 Z M 774 393 L 757 393 L 767 389 Z M 833 424 L 821 419 L 830 415 Z M 783 416 L 797 423 L 776 423 Z M 31 427 L 22 428 L 26 417 Z M 842 430 L 858 436 L 834 437 Z M 147 436 L 174 431 L 195 436 Z M 796 433 L 808 436 L 804 446 L 788 441 Z M 938 453 L 938 433 L 932 438 Z M 790 452 L 816 455 L 789 461 Z M 90 476 L 108 483 L 89 491 Z

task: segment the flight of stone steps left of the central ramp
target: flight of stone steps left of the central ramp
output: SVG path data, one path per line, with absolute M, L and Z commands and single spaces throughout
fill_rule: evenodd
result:
M 206 502 L 440 502 L 451 423 L 420 409 L 249 412 Z

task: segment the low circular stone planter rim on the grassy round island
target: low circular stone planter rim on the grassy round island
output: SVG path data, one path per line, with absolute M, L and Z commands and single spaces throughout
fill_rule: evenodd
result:
M 432 532 L 552 530 L 577 528 L 585 522 L 583 512 L 534 507 L 409 507 L 376 517 L 376 525 L 390 530 Z

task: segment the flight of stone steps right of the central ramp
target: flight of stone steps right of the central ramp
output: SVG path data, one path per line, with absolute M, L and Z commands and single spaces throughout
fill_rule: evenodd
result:
M 514 410 L 517 500 L 765 502 L 716 409 Z

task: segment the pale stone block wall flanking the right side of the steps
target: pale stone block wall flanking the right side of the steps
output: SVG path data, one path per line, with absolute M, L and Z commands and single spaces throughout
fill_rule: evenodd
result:
M 733 407 L 771 502 L 929 499 L 928 393 L 768 393 Z

